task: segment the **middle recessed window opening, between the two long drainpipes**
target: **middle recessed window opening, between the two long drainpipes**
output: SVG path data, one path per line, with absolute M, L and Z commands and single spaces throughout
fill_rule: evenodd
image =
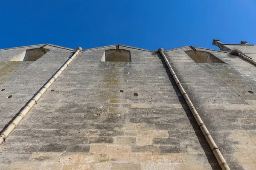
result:
M 124 49 L 105 50 L 101 61 L 131 62 L 131 52 Z

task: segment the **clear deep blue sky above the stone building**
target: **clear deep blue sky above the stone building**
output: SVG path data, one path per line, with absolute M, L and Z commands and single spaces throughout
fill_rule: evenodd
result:
M 2 0 L 0 48 L 256 44 L 256 0 Z

